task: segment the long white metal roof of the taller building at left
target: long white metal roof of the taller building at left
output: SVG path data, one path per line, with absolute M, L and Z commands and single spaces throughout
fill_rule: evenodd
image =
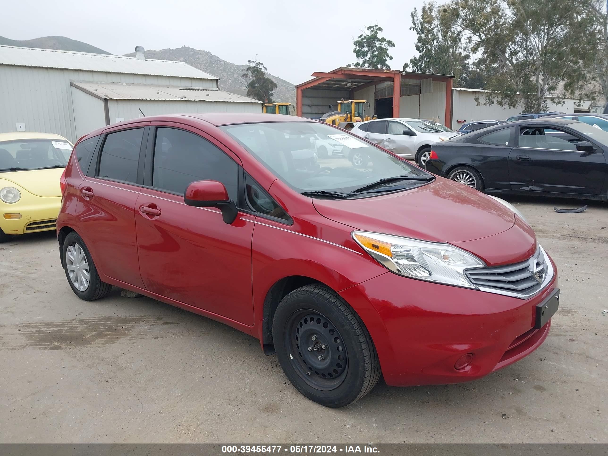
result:
M 135 57 L 123 57 L 122 55 L 89 54 L 88 52 L 35 49 L 33 47 L 0 46 L 0 64 L 67 68 L 108 73 L 218 79 L 185 62 L 153 59 L 138 60 Z

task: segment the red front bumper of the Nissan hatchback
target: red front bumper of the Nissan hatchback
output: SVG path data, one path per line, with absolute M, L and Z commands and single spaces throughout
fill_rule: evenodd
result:
M 370 321 L 366 326 L 387 384 L 449 384 L 478 379 L 513 364 L 544 342 L 551 322 L 534 330 L 535 306 L 558 286 L 555 264 L 553 269 L 553 280 L 528 300 L 392 272 L 340 295 L 354 308 L 371 307 L 378 313 L 374 319 L 361 317 L 364 323 Z M 456 370 L 455 362 L 466 353 L 474 354 L 471 364 Z

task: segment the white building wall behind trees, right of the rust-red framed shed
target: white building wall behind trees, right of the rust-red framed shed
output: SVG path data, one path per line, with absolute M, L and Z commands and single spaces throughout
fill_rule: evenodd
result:
M 475 97 L 480 98 L 483 103 L 483 92 L 479 91 L 464 91 L 454 90 L 454 112 L 452 113 L 452 128 L 458 130 L 462 126 L 462 122 L 457 120 L 465 120 L 473 122 L 474 120 L 506 120 L 508 117 L 517 116 L 522 112 L 522 108 L 501 108 L 499 105 L 477 106 Z M 565 100 L 564 105 L 549 102 L 549 111 L 558 112 L 575 112 L 575 109 L 587 109 L 591 102 L 584 102 L 582 106 L 575 105 L 576 100 Z

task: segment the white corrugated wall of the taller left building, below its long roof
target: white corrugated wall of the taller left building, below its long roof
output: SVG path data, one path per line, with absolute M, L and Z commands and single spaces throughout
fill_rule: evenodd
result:
M 125 82 L 215 88 L 210 79 L 119 74 L 0 64 L 0 133 L 26 131 L 57 133 L 78 139 L 70 81 Z M 259 111 L 257 111 L 259 112 Z

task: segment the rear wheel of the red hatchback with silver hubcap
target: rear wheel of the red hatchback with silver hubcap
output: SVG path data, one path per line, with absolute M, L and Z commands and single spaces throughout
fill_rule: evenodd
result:
M 70 256 L 68 256 L 68 250 Z M 83 263 L 79 258 L 84 258 L 85 262 Z M 95 268 L 95 263 L 93 263 L 93 258 L 91 258 L 85 241 L 83 241 L 74 231 L 69 233 L 63 241 L 63 247 L 61 247 L 61 260 L 63 262 L 63 269 L 66 272 L 67 283 L 69 283 L 72 291 L 74 291 L 80 299 L 94 301 L 95 299 L 103 298 L 112 289 L 112 285 L 102 282 L 99 274 L 97 274 L 97 268 Z M 74 265 L 77 265 L 77 269 L 75 270 L 71 269 L 71 266 Z M 85 275 L 85 268 L 89 274 L 89 281 L 86 286 L 85 283 L 83 283 L 83 280 L 81 280 Z M 72 280 L 70 270 L 74 271 L 74 274 L 77 277 L 75 280 L 77 280 L 77 282 Z

